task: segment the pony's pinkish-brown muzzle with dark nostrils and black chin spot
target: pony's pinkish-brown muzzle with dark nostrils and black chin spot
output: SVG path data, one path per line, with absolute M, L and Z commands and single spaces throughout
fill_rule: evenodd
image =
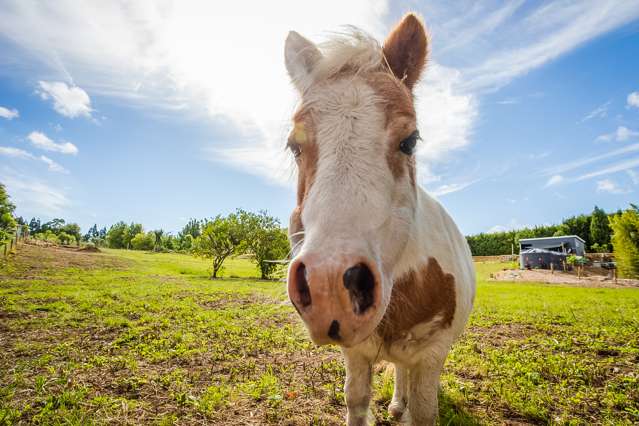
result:
M 375 329 L 381 285 L 365 257 L 303 254 L 290 265 L 288 294 L 317 344 L 352 346 Z

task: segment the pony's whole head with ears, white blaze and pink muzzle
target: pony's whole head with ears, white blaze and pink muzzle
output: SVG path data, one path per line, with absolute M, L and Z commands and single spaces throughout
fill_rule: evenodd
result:
M 286 39 L 301 96 L 288 140 L 298 168 L 288 292 L 316 343 L 361 342 L 388 306 L 415 215 L 412 89 L 427 50 L 413 14 L 383 47 L 357 30 L 319 48 Z

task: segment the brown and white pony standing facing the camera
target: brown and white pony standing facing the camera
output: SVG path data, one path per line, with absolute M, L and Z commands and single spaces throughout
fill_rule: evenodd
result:
M 390 413 L 433 424 L 444 360 L 473 305 L 466 240 L 416 183 L 412 90 L 427 51 L 414 14 L 383 47 L 357 30 L 320 47 L 286 39 L 301 97 L 288 140 L 298 168 L 288 293 L 311 339 L 342 348 L 351 425 L 370 419 L 381 359 L 395 364 Z

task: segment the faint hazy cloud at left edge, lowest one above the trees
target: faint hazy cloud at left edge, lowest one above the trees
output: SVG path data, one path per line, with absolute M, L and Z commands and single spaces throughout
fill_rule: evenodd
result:
M 11 199 L 20 211 L 33 215 L 54 216 L 63 212 L 71 202 L 66 193 L 44 182 L 21 175 L 7 173 L 0 176 Z

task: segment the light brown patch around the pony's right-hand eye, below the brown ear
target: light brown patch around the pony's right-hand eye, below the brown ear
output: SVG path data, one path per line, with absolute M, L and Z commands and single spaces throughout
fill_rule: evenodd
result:
M 399 143 L 416 128 L 412 95 L 406 86 L 387 72 L 373 73 L 366 81 L 380 98 L 386 117 L 385 127 L 390 140 L 386 148 L 388 167 L 395 179 L 400 179 L 408 170 L 410 181 L 415 186 L 415 159 L 399 151 Z

